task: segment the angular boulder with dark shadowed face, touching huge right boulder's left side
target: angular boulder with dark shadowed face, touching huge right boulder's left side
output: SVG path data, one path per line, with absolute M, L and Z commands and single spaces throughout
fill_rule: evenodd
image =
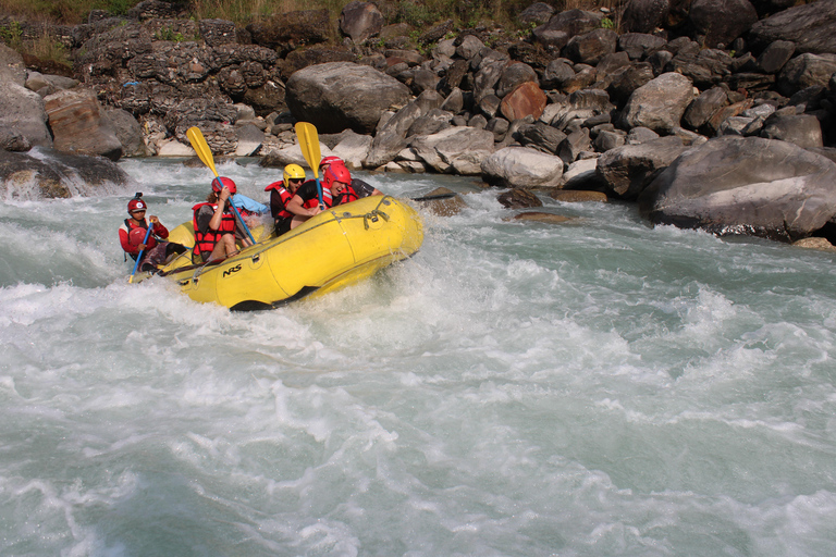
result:
M 687 147 L 675 136 L 624 145 L 598 159 L 597 171 L 608 196 L 635 200 Z

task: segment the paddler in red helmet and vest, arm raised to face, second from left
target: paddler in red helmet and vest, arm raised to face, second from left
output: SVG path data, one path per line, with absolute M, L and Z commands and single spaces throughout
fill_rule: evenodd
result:
M 202 203 L 192 208 L 192 224 L 195 228 L 195 247 L 192 261 L 208 263 L 237 255 L 236 240 L 242 246 L 251 246 L 246 231 L 236 220 L 230 197 L 237 191 L 235 182 L 228 177 L 212 181 L 212 193 Z

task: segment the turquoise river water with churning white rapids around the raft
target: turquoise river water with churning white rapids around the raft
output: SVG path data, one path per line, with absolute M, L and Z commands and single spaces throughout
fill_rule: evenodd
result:
M 833 255 L 365 175 L 468 208 L 372 280 L 230 313 L 127 284 L 115 232 L 211 174 L 121 164 L 115 195 L 0 202 L 0 555 L 836 555 Z

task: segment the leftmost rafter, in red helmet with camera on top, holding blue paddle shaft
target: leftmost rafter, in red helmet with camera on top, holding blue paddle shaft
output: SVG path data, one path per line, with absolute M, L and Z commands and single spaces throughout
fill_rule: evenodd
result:
M 164 264 L 174 253 L 186 251 L 185 246 L 165 242 L 169 237 L 169 230 L 160 223 L 156 215 L 150 215 L 146 220 L 145 213 L 148 209 L 143 194 L 136 194 L 127 202 L 128 219 L 119 227 L 119 243 L 126 255 L 136 261 L 139 253 L 143 260 L 139 262 L 139 271 L 156 271 L 159 265 Z M 151 234 L 148 227 L 151 227 Z M 148 243 L 145 244 L 145 237 L 148 236 Z

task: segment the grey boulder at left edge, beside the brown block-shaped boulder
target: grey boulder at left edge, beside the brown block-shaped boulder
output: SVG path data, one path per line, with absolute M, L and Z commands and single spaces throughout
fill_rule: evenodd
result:
M 0 128 L 25 137 L 32 146 L 52 147 L 44 99 L 12 81 L 0 81 Z

